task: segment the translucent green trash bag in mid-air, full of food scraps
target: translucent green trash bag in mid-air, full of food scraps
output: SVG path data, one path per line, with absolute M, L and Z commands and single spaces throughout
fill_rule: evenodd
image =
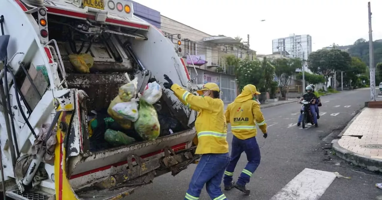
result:
M 160 124 L 154 106 L 146 101 L 139 101 L 139 117 L 134 123 L 134 128 L 145 140 L 155 140 L 159 136 Z

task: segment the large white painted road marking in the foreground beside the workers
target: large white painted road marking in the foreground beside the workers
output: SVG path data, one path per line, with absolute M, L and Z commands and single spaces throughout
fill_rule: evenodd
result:
M 336 177 L 333 172 L 305 168 L 270 200 L 318 200 Z

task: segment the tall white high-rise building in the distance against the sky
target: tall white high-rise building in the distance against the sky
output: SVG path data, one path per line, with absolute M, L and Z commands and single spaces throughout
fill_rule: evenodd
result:
M 274 39 L 272 53 L 276 52 L 288 52 L 290 57 L 307 59 L 312 52 L 312 36 L 290 34 L 289 37 Z

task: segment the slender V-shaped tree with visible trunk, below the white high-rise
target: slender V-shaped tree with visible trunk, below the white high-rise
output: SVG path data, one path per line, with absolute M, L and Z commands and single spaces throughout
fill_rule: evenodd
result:
M 275 75 L 280 88 L 281 95 L 286 97 L 292 75 L 296 73 L 296 69 L 301 68 L 302 61 L 299 58 L 277 58 L 274 60 Z

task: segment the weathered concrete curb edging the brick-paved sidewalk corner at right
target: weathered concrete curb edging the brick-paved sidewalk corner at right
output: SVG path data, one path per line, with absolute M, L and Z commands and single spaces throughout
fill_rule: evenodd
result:
M 335 151 L 336 155 L 347 162 L 352 163 L 356 166 L 361 166 L 370 171 L 382 172 L 382 160 L 372 159 L 370 156 L 356 154 L 351 152 L 338 144 L 339 139 L 333 139 L 332 149 Z

